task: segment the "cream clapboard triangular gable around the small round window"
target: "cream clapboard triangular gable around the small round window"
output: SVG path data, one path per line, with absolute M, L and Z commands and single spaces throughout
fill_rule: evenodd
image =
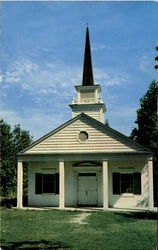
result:
M 89 138 L 78 140 L 80 131 Z M 21 154 L 148 152 L 120 132 L 82 113 L 43 136 Z

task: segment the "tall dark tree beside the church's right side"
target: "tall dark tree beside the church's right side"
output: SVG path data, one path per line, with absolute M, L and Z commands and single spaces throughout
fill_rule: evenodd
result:
M 146 94 L 140 99 L 137 110 L 137 128 L 131 132 L 131 138 L 149 148 L 153 152 L 154 160 L 154 196 L 158 198 L 158 82 L 153 81 Z

